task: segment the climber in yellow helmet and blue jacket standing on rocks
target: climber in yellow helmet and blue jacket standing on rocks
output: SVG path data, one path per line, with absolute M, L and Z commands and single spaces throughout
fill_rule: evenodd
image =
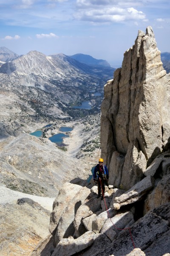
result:
M 108 186 L 108 178 L 109 178 L 109 173 L 107 167 L 103 164 L 103 159 L 99 159 L 99 163 L 95 166 L 94 168 L 94 174 L 93 174 L 93 179 L 98 185 L 98 195 L 97 198 L 100 197 L 101 194 L 101 187 L 102 187 L 102 197 L 101 200 L 103 199 L 103 195 L 105 194 L 105 183 Z

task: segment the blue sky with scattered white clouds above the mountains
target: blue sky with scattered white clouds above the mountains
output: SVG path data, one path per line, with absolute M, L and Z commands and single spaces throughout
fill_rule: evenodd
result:
M 19 55 L 83 53 L 119 66 L 147 26 L 170 52 L 169 0 L 0 0 L 0 46 Z

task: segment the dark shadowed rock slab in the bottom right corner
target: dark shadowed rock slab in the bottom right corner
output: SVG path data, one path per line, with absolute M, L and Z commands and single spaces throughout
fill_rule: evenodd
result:
M 163 234 L 164 236 L 169 235 L 169 218 L 170 203 L 148 212 L 143 218 L 136 221 L 130 227 L 134 245 L 139 247 L 142 251 L 148 248 L 150 256 L 162 256 L 164 253 L 167 253 L 170 249 L 170 243 L 168 243 L 169 237 L 166 238 L 166 242 L 163 244 L 161 244 L 160 240 L 160 248 L 157 252 L 151 245 L 153 243 L 156 244 L 157 238 L 159 237 L 161 239 Z M 133 250 L 133 242 L 129 230 L 125 230 L 125 232 L 119 234 L 109 246 L 107 245 L 103 250 L 96 252 L 94 256 L 108 256 L 112 254 L 114 256 L 127 255 Z

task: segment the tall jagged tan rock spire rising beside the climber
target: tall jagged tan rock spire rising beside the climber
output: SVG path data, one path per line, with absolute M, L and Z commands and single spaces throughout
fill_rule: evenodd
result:
M 152 28 L 138 32 L 122 68 L 105 85 L 101 150 L 112 184 L 130 189 L 147 166 L 167 150 L 170 137 L 170 76 L 161 62 Z

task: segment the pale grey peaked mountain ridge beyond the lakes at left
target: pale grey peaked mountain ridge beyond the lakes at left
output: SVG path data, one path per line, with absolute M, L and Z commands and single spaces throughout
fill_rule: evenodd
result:
M 104 69 L 104 70 L 103 70 Z M 46 56 L 31 51 L 0 67 L 6 84 L 36 87 L 53 93 L 62 104 L 82 102 L 89 91 L 103 87 L 105 76 L 111 77 L 112 67 L 90 66 L 64 54 Z M 103 75 L 104 73 L 104 75 Z

